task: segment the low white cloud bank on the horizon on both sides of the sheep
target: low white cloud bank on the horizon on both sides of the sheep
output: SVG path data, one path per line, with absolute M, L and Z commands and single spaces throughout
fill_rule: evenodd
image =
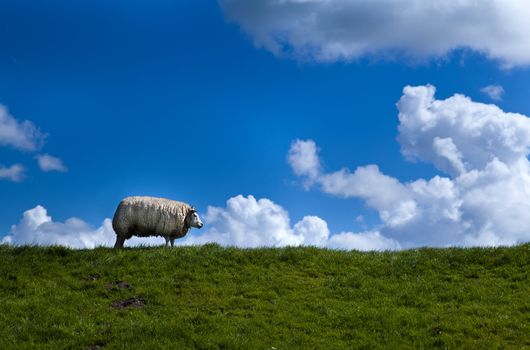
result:
M 193 230 L 177 245 L 218 243 L 224 246 L 244 248 L 285 247 L 311 245 L 335 249 L 386 250 L 398 249 L 399 244 L 377 232 L 355 234 L 351 232 L 331 235 L 327 223 L 317 216 L 306 216 L 294 226 L 289 214 L 273 201 L 253 196 L 232 197 L 225 208 L 208 207 L 205 215 L 205 231 Z M 56 222 L 47 210 L 38 205 L 24 212 L 17 225 L 1 243 L 63 245 L 71 248 L 111 247 L 116 240 L 111 219 L 103 220 L 98 228 L 92 228 L 78 218 Z M 125 246 L 163 245 L 161 237 L 133 237 Z

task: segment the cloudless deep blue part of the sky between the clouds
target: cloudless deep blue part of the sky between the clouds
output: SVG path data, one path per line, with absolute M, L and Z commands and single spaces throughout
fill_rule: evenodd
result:
M 407 183 L 444 173 L 400 153 L 405 86 L 431 84 L 439 100 L 461 93 L 530 115 L 528 62 L 511 53 L 469 44 L 322 59 L 299 54 L 289 38 L 278 52 L 260 37 L 267 18 L 253 27 L 256 16 L 239 5 L 0 3 L 0 104 L 46 134 L 38 150 L 0 146 L 0 164 L 25 168 L 19 181 L 0 180 L 0 237 L 37 205 L 56 222 L 76 217 L 97 228 L 128 195 L 183 200 L 203 214 L 253 195 L 281 206 L 291 224 L 313 215 L 332 233 L 375 230 L 381 213 L 363 198 L 304 187 L 287 161 L 295 140 L 313 140 L 327 172 L 377 164 Z M 500 100 L 481 92 L 488 85 L 503 87 Z M 42 171 L 39 154 L 67 171 Z

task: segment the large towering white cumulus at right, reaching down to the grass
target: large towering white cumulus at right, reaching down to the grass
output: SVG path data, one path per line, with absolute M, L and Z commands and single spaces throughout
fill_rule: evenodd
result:
M 381 219 L 374 232 L 403 247 L 530 240 L 530 119 L 434 94 L 430 85 L 403 89 L 398 141 L 406 159 L 430 162 L 440 175 L 403 183 L 368 165 L 322 172 L 313 182 L 365 201 Z

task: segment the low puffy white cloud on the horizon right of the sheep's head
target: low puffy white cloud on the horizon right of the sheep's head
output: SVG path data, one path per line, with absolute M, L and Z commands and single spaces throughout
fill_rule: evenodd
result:
M 204 233 L 194 232 L 178 243 L 247 248 L 299 245 L 356 250 L 399 248 L 396 241 L 371 232 L 331 235 L 327 223 L 317 216 L 305 216 L 292 226 L 289 214 L 280 205 L 251 195 L 232 197 L 224 208 L 209 207 L 205 222 L 208 228 Z

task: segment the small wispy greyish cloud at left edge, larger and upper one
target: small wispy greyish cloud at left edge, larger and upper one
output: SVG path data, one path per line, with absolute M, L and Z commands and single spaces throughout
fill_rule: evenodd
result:
M 45 135 L 29 120 L 18 121 L 6 107 L 0 105 L 0 146 L 11 146 L 22 151 L 38 150 Z

